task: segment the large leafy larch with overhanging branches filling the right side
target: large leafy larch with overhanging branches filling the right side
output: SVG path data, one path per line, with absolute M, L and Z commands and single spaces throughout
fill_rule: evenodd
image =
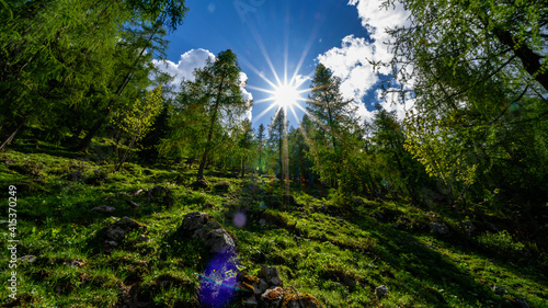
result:
M 387 92 L 415 103 L 407 149 L 456 203 L 543 204 L 534 196 L 548 191 L 546 3 L 400 2 L 409 25 L 389 31 L 400 87 Z

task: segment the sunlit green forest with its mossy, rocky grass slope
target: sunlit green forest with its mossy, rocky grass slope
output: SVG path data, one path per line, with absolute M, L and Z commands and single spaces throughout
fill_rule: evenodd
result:
M 255 125 L 184 0 L 0 0 L 0 306 L 548 307 L 548 5 L 396 2 L 403 118 L 318 62 Z

